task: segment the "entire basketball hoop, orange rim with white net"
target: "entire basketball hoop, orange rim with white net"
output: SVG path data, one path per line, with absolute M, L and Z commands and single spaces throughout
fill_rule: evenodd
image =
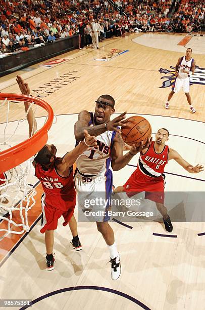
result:
M 28 211 L 35 205 L 34 196 L 36 190 L 34 185 L 28 183 L 30 177 L 32 162 L 35 154 L 46 144 L 48 139 L 48 130 L 52 126 L 54 112 L 52 107 L 45 101 L 21 94 L 6 94 L 0 93 L 0 107 L 4 110 L 6 107 L 6 122 L 4 132 L 4 141 L 0 141 L 0 241 L 9 234 L 23 234 L 24 231 L 29 231 Z M 12 100 L 12 101 L 11 101 Z M 10 105 L 21 102 L 30 103 L 23 120 L 17 120 L 16 128 L 13 122 L 9 122 Z M 45 109 L 48 113 L 45 118 L 44 125 L 34 135 L 23 142 L 15 142 L 10 145 L 12 139 L 19 137 L 15 135 L 20 123 L 23 123 L 27 117 L 29 109 L 36 104 Z M 34 111 L 35 112 L 35 111 Z M 2 114 L 1 114 L 2 116 Z M 0 124 L 0 125 L 3 125 Z M 8 125 L 12 125 L 12 134 L 8 134 Z M 23 125 L 23 124 L 22 124 Z M 15 129 L 13 129 L 15 128 Z M 19 129 L 21 130 L 21 128 Z M 32 132 L 34 130 L 34 122 Z M 8 137 L 9 136 L 9 137 Z M 26 135 L 28 137 L 29 134 Z M 21 135 L 20 135 L 21 137 Z M 5 149 L 7 147 L 7 149 Z M 33 173 L 32 173 L 33 174 Z M 2 178 L 1 178 L 2 177 Z M 6 202 L 6 203 L 5 203 Z M 4 217 L 8 214 L 8 217 Z M 2 221 L 2 222 L 1 222 Z M 2 225 L 3 224 L 3 225 Z

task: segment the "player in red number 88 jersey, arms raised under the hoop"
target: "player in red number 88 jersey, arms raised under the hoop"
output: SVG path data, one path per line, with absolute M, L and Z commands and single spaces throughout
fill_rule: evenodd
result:
M 19 75 L 17 75 L 17 82 L 22 94 L 29 95 L 30 89 L 28 84 L 24 83 Z M 24 105 L 27 112 L 30 104 L 24 102 Z M 31 107 L 27 113 L 27 120 L 31 136 L 33 124 L 33 132 L 37 129 Z M 72 166 L 79 155 L 82 154 L 88 146 L 96 146 L 94 136 L 90 136 L 86 130 L 84 130 L 84 136 L 84 141 L 73 150 L 66 153 L 63 158 L 56 157 L 56 146 L 53 144 L 46 144 L 39 150 L 33 161 L 35 175 L 40 180 L 45 193 L 45 197 L 42 199 L 42 228 L 40 232 L 42 232 L 42 234 L 45 233 L 47 270 L 54 269 L 54 230 L 57 228 L 58 219 L 62 215 L 65 220 L 63 225 L 66 226 L 69 223 L 73 235 L 73 248 L 76 250 L 82 248 L 78 238 L 76 219 L 73 215 L 76 204 L 76 192 L 73 183 Z

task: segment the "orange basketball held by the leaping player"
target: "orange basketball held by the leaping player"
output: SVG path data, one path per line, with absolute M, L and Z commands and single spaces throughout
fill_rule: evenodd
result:
M 139 146 L 141 141 L 146 143 L 151 137 L 151 125 L 145 118 L 133 116 L 127 119 L 126 126 L 121 128 L 121 132 L 125 143 L 130 146 L 133 146 L 133 143 Z

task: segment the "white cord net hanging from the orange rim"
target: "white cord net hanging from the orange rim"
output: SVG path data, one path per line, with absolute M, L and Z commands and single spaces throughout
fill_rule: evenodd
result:
M 20 102 L 21 105 L 22 103 L 23 102 Z M 32 106 L 34 114 L 37 109 L 37 105 L 32 102 L 27 113 L 24 113 L 25 115 L 23 119 L 13 122 L 11 128 L 11 126 L 9 126 L 9 111 L 11 104 L 14 103 L 11 103 L 7 99 L 0 101 L 0 109 L 6 112 L 4 132 L 1 130 L 0 135 L 0 151 L 22 142 L 17 142 L 16 140 L 18 129 L 21 131 L 21 128 L 19 128 L 21 127 L 20 124 L 26 122 L 27 114 Z M 1 126 L 3 126 L 3 124 L 1 124 Z M 26 131 L 26 138 L 28 138 L 28 125 Z M 9 171 L 5 171 L 5 173 L 0 173 L 0 240 L 11 233 L 22 234 L 24 231 L 29 230 L 28 211 L 34 206 L 34 196 L 36 195 L 36 190 L 33 185 L 28 183 L 28 176 L 31 171 L 33 158 L 34 156 L 23 162 L 21 165 L 14 167 Z

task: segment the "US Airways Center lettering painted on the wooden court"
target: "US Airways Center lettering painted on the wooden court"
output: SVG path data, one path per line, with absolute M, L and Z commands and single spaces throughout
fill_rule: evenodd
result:
M 78 71 L 69 71 L 58 76 L 58 78 L 54 78 L 53 80 L 37 87 L 36 89 L 33 89 L 32 91 L 37 94 L 38 98 L 45 98 L 80 79 L 80 76 L 78 76 L 77 73 Z

